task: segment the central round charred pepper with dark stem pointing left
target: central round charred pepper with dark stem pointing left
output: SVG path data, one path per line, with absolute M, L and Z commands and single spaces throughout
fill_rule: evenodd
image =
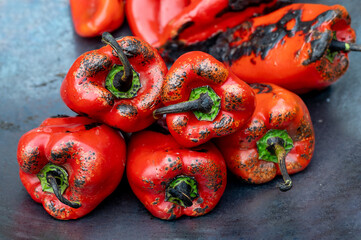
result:
M 221 62 L 203 52 L 182 55 L 170 68 L 163 84 L 170 133 L 186 147 L 221 137 L 242 127 L 255 108 L 254 93 Z

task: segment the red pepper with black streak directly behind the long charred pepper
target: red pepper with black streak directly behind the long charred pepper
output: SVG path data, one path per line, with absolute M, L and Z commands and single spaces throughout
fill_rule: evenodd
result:
M 168 22 L 154 46 L 167 51 L 173 44 L 187 46 L 205 41 L 251 17 L 275 9 L 278 3 L 277 0 L 192 1 Z

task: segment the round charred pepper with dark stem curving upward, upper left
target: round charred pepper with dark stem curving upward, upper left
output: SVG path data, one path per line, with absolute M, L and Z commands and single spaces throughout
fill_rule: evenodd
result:
M 115 41 L 105 33 L 103 41 L 111 47 L 86 52 L 74 62 L 61 97 L 73 111 L 125 132 L 144 129 L 161 106 L 167 67 L 157 50 L 136 37 Z

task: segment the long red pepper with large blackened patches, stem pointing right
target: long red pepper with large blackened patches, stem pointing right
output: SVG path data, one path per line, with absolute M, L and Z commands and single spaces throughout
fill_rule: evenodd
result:
M 180 48 L 210 53 L 245 82 L 305 93 L 329 86 L 347 70 L 347 51 L 359 49 L 351 44 L 355 32 L 350 21 L 340 5 L 291 4 Z

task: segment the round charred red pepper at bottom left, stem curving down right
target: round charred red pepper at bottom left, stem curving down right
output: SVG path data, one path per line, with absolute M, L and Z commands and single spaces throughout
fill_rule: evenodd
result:
M 32 199 L 54 218 L 77 219 L 118 186 L 126 146 L 122 135 L 105 124 L 86 117 L 58 116 L 20 138 L 17 159 L 21 182 Z M 63 190 L 60 198 L 65 200 L 55 195 L 50 175 L 57 179 L 56 185 Z

